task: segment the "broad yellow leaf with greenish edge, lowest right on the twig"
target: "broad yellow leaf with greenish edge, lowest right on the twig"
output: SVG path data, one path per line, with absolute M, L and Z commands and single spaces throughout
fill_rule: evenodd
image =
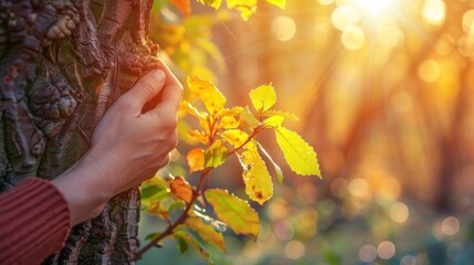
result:
M 221 189 L 209 189 L 206 191 L 206 198 L 213 206 L 218 218 L 235 233 L 257 236 L 260 231 L 259 214 L 247 201 Z

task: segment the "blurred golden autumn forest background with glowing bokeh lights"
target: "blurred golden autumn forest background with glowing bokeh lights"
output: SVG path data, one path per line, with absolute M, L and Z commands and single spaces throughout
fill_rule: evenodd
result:
M 259 1 L 247 21 L 191 3 L 186 15 L 155 1 L 161 56 L 182 81 L 213 80 L 228 106 L 273 83 L 323 173 L 284 169 L 257 208 L 259 239 L 227 233 L 227 254 L 209 246 L 215 264 L 474 263 L 474 1 L 288 0 L 285 10 Z M 183 137 L 178 150 L 190 148 Z M 175 159 L 171 171 L 186 174 Z M 243 194 L 236 160 L 212 176 Z M 161 227 L 141 216 L 141 239 Z M 206 262 L 166 241 L 138 264 Z

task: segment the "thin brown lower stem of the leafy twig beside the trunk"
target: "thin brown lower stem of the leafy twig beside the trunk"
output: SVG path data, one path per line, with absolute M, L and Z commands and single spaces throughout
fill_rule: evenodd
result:
M 175 232 L 176 227 L 178 227 L 180 224 L 186 222 L 186 220 L 188 219 L 188 213 L 191 210 L 192 205 L 194 204 L 194 201 L 201 194 L 201 187 L 202 187 L 202 183 L 206 179 L 206 176 L 208 176 L 209 172 L 211 172 L 211 170 L 212 170 L 212 168 L 209 167 L 209 168 L 206 168 L 201 171 L 201 174 L 199 176 L 199 182 L 192 192 L 191 201 L 186 205 L 185 211 L 181 213 L 181 215 L 178 218 L 178 220 L 176 220 L 175 223 L 170 224 L 162 233 L 160 233 L 155 239 L 152 239 L 146 246 L 144 246 L 141 250 L 139 250 L 135 254 L 137 259 L 141 258 L 141 256 L 147 251 L 149 251 L 151 247 L 159 245 L 158 242 L 160 242 L 165 237 L 171 235 Z

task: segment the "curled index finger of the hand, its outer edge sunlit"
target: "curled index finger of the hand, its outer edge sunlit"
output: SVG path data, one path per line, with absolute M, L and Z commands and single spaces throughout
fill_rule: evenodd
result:
M 168 66 L 165 63 L 160 64 L 160 70 L 162 70 L 167 76 L 165 88 L 161 93 L 161 102 L 158 104 L 156 112 L 159 109 L 169 109 L 177 112 L 179 107 L 179 102 L 182 97 L 182 85 L 179 83 L 178 78 L 171 73 Z

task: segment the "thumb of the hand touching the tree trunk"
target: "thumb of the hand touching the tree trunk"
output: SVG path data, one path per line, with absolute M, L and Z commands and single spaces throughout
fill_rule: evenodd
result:
M 164 88 L 166 74 L 161 70 L 154 70 L 141 76 L 129 92 L 124 95 L 124 99 L 133 100 L 136 110 L 141 113 L 144 105 L 156 97 Z

